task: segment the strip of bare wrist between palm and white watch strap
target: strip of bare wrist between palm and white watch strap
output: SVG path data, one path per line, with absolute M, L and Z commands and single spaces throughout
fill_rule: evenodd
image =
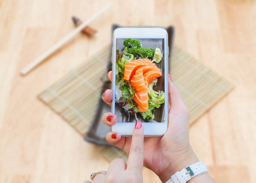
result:
M 159 179 L 162 181 L 162 183 L 165 183 L 177 171 L 181 171 L 186 166 L 192 165 L 198 161 L 198 158 L 190 146 L 189 150 L 184 152 L 180 157 L 175 160 L 171 160 L 169 166 L 158 174 Z

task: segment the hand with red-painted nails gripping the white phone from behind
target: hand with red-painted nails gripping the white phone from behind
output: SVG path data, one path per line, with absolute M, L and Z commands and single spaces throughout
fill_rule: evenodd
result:
M 108 73 L 108 78 L 112 80 L 112 71 Z M 198 162 L 189 143 L 189 111 L 171 81 L 170 75 L 168 80 L 170 108 L 168 130 L 163 137 L 145 137 L 144 139 L 144 165 L 153 170 L 162 182 L 170 179 L 175 172 Z M 102 98 L 111 105 L 112 96 L 112 90 L 106 90 Z M 102 121 L 112 126 L 117 122 L 117 117 L 111 112 L 106 112 Z M 129 154 L 131 137 L 121 137 L 117 132 L 108 132 L 106 140 Z

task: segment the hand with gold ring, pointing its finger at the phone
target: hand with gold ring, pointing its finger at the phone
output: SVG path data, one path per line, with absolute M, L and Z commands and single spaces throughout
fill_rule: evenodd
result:
M 132 142 L 128 162 L 118 158 L 108 166 L 108 171 L 100 171 L 92 183 L 143 183 L 142 167 L 144 159 L 144 129 L 142 123 L 137 121 L 132 134 Z M 91 183 L 85 181 L 84 183 Z

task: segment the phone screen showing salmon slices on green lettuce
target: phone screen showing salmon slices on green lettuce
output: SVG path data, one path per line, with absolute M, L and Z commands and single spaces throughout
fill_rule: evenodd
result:
M 116 39 L 118 122 L 164 122 L 164 39 Z

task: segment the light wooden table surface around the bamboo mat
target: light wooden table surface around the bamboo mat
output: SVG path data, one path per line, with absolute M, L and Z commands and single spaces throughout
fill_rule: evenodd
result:
M 181 46 L 236 88 L 190 128 L 191 144 L 218 183 L 256 172 L 256 2 L 115 0 L 91 26 L 29 75 L 20 71 L 110 0 L 0 0 L 0 183 L 82 183 L 108 162 L 37 95 L 110 43 L 111 24 L 175 26 Z M 137 7 L 137 8 L 136 8 Z M 144 168 L 144 182 L 159 182 Z

